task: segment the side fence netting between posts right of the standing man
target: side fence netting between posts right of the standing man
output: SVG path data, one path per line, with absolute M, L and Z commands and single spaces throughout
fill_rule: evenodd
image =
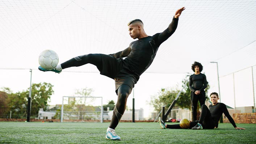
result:
M 221 102 L 233 108 L 254 106 L 255 78 L 256 66 L 221 77 Z

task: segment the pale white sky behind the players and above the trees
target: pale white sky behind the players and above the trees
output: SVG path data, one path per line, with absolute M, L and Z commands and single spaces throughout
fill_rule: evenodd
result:
M 141 19 L 146 33 L 154 35 L 165 30 L 183 6 L 177 30 L 159 47 L 154 62 L 135 84 L 135 109 L 142 107 L 144 117 L 150 116 L 151 97 L 157 97 L 161 88 L 181 88 L 182 79 L 193 73 L 194 61 L 204 66 L 210 92 L 218 92 L 217 65 L 210 62 L 218 62 L 221 102 L 253 106 L 255 0 L 2 0 L 0 87 L 14 92 L 27 89 L 29 69 L 33 69 L 32 83 L 54 85 L 51 105 L 85 87 L 94 90 L 92 96 L 102 96 L 104 104 L 116 102 L 114 80 L 100 75 L 95 66 L 72 67 L 60 74 L 40 72 L 39 54 L 54 50 L 62 63 L 79 55 L 121 51 L 134 41 L 127 29 L 130 20 Z M 128 107 L 132 97 L 133 93 Z

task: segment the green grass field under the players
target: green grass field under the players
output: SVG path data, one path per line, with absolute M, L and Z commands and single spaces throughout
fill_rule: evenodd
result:
M 162 130 L 159 123 L 122 122 L 116 128 L 122 140 L 110 141 L 105 139 L 109 123 L 0 122 L 0 143 L 255 144 L 256 124 L 237 125 L 246 130 L 235 130 L 230 123 L 219 124 L 219 128 L 215 130 Z

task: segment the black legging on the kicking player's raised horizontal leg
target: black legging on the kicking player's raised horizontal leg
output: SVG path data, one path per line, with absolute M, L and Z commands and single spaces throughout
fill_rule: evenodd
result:
M 100 54 L 88 54 L 81 55 L 75 58 L 72 58 L 61 64 L 62 69 L 69 67 L 79 67 L 84 64 L 93 64 L 96 65 L 99 71 L 102 70 L 102 58 Z

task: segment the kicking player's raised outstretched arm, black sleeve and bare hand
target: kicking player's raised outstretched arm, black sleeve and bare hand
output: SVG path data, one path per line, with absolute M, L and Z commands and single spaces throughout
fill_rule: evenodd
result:
M 161 43 L 166 41 L 175 32 L 178 26 L 178 20 L 179 20 L 180 14 L 183 10 L 185 10 L 185 7 L 178 9 L 175 12 L 174 17 L 172 18 L 172 22 L 171 24 L 169 24 L 168 28 L 158 35 L 158 39 L 157 39 L 158 45 L 161 45 Z

